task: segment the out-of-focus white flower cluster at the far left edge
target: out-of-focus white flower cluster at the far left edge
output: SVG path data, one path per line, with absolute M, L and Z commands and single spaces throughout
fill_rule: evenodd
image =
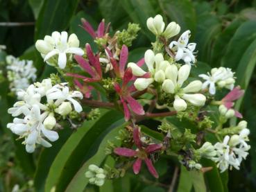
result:
M 10 82 L 10 90 L 17 94 L 19 89 L 26 89 L 37 78 L 32 60 L 19 60 L 12 55 L 6 57 L 7 78 Z

